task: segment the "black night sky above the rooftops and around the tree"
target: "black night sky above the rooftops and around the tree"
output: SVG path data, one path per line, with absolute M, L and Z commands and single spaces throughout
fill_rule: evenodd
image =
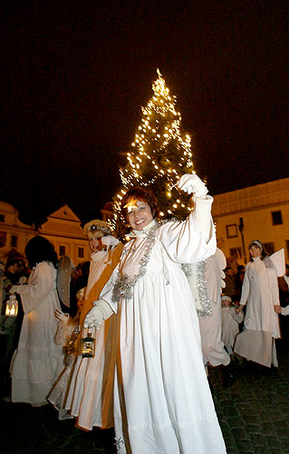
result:
M 288 3 L 4 0 L 0 200 L 99 217 L 157 68 L 210 193 L 287 177 Z

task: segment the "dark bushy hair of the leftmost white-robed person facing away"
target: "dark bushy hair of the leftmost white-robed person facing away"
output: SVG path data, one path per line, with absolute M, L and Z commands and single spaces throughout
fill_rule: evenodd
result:
M 57 253 L 54 251 L 53 244 L 43 236 L 34 236 L 25 247 L 25 255 L 30 268 L 34 268 L 40 262 L 52 262 L 56 268 L 58 262 Z

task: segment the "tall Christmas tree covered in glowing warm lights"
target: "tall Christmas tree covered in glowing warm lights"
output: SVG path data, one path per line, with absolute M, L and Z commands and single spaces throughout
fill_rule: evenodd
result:
M 188 195 L 178 192 L 175 184 L 182 174 L 193 172 L 190 137 L 181 129 L 176 96 L 169 94 L 159 70 L 158 74 L 153 96 L 141 109 L 140 126 L 125 153 L 127 163 L 120 168 L 123 187 L 115 207 L 119 212 L 120 200 L 130 187 L 144 185 L 155 192 L 161 217 L 185 219 L 191 210 Z

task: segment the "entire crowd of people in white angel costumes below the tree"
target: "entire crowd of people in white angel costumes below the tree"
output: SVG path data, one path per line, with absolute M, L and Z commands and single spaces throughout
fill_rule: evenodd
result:
M 206 185 L 186 174 L 178 189 L 194 204 L 184 222 L 160 222 L 153 192 L 136 187 L 121 201 L 129 241 L 106 222 L 85 224 L 92 260 L 72 267 L 69 303 L 57 291 L 57 254 L 42 236 L 26 245 L 28 266 L 10 259 L 3 270 L 9 399 L 50 403 L 81 429 L 110 430 L 110 452 L 226 453 L 210 368 L 231 386 L 240 361 L 278 366 L 289 267 L 280 275 L 282 264 L 258 240 L 248 245 L 246 267 L 228 263 Z M 11 294 L 17 318 L 5 316 Z

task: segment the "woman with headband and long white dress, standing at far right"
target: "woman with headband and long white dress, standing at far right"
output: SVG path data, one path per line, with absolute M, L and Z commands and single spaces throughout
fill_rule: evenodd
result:
M 246 305 L 245 330 L 236 337 L 234 351 L 263 366 L 278 366 L 275 339 L 280 338 L 278 279 L 274 263 L 265 253 L 262 242 L 249 244 L 251 261 L 246 265 L 240 305 Z

